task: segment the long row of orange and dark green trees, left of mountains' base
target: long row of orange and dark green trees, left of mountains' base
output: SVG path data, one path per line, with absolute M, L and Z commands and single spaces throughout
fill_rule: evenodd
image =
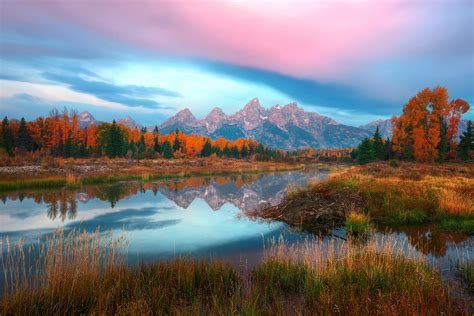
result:
M 161 134 L 156 126 L 151 131 L 131 129 L 116 121 L 81 128 L 77 112 L 67 109 L 62 113 L 53 110 L 48 117 L 31 122 L 24 118 L 9 121 L 5 117 L 0 133 L 0 148 L 9 156 L 25 152 L 64 158 L 127 157 L 137 160 L 211 156 L 269 160 L 283 156 L 282 151 L 246 138 L 213 140 L 200 135 L 186 135 L 179 130 Z

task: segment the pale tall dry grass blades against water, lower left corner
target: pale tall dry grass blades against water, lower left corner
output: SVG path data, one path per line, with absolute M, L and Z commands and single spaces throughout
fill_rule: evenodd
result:
M 1 240 L 0 261 L 5 295 L 50 294 L 68 296 L 84 278 L 99 275 L 104 269 L 126 265 L 127 240 L 111 233 L 93 234 L 76 229 L 65 235 L 56 230 L 51 235 L 38 236 L 31 244 L 25 240 L 12 243 Z M 93 284 L 90 284 L 93 285 Z

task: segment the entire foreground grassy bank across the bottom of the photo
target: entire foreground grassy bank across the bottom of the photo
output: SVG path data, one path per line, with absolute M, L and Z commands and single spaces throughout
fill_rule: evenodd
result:
M 277 242 L 252 271 L 184 258 L 127 267 L 123 239 L 59 232 L 39 252 L 11 246 L 2 257 L 0 313 L 462 314 L 439 274 L 402 248 L 375 239 Z M 23 278 L 32 254 L 38 272 Z

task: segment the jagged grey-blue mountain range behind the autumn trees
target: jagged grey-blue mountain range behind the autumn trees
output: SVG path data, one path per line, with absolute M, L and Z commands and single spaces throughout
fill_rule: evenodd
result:
M 129 128 L 143 126 L 130 116 L 117 121 Z M 79 124 L 87 127 L 100 123 L 89 112 L 79 114 Z M 465 129 L 462 121 L 459 130 Z M 203 119 L 197 119 L 189 109 L 183 109 L 158 126 L 160 133 L 167 134 L 176 129 L 186 134 L 199 134 L 213 139 L 224 137 L 235 140 L 252 138 L 271 148 L 296 149 L 302 147 L 340 148 L 355 147 L 365 137 L 374 134 L 377 126 L 382 137 L 392 137 L 389 119 L 379 119 L 359 127 L 344 125 L 330 117 L 306 112 L 296 103 L 264 108 L 257 98 L 250 100 L 238 112 L 227 115 L 214 108 Z

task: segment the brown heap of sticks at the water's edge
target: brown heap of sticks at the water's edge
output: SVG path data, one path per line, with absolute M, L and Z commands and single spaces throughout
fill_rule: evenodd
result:
M 264 205 L 249 215 L 320 231 L 342 224 L 348 212 L 361 206 L 362 198 L 357 193 L 349 190 L 333 191 L 318 185 L 290 194 L 278 205 Z

